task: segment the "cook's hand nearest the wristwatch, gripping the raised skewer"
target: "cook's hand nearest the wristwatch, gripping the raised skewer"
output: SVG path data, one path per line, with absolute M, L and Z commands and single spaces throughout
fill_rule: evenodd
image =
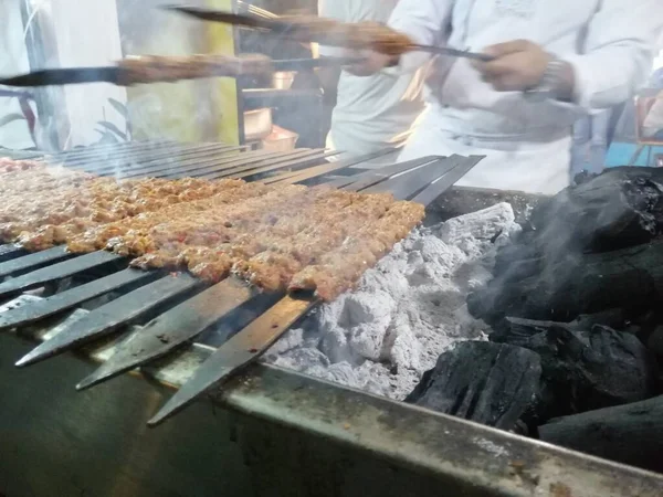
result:
M 498 92 L 523 92 L 536 87 L 544 77 L 552 56 L 527 40 L 515 40 L 488 46 L 484 51 L 495 57 L 475 62 L 485 82 Z

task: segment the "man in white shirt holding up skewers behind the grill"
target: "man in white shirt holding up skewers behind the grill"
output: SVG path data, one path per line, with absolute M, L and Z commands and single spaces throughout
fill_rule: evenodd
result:
M 415 43 L 482 51 L 438 57 L 429 108 L 401 159 L 485 155 L 459 184 L 555 193 L 569 183 L 570 130 L 631 98 L 652 67 L 661 0 L 400 0 L 389 25 Z M 407 73 L 430 56 L 369 54 L 354 71 Z

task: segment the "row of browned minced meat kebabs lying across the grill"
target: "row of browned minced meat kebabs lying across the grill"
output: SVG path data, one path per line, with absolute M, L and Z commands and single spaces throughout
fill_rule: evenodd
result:
M 18 187 L 18 186 L 21 187 Z M 31 251 L 109 250 L 140 268 L 230 274 L 334 299 L 424 215 L 423 205 L 327 187 L 224 179 L 117 181 L 0 161 L 0 240 Z M 25 193 L 29 191 L 29 200 Z

